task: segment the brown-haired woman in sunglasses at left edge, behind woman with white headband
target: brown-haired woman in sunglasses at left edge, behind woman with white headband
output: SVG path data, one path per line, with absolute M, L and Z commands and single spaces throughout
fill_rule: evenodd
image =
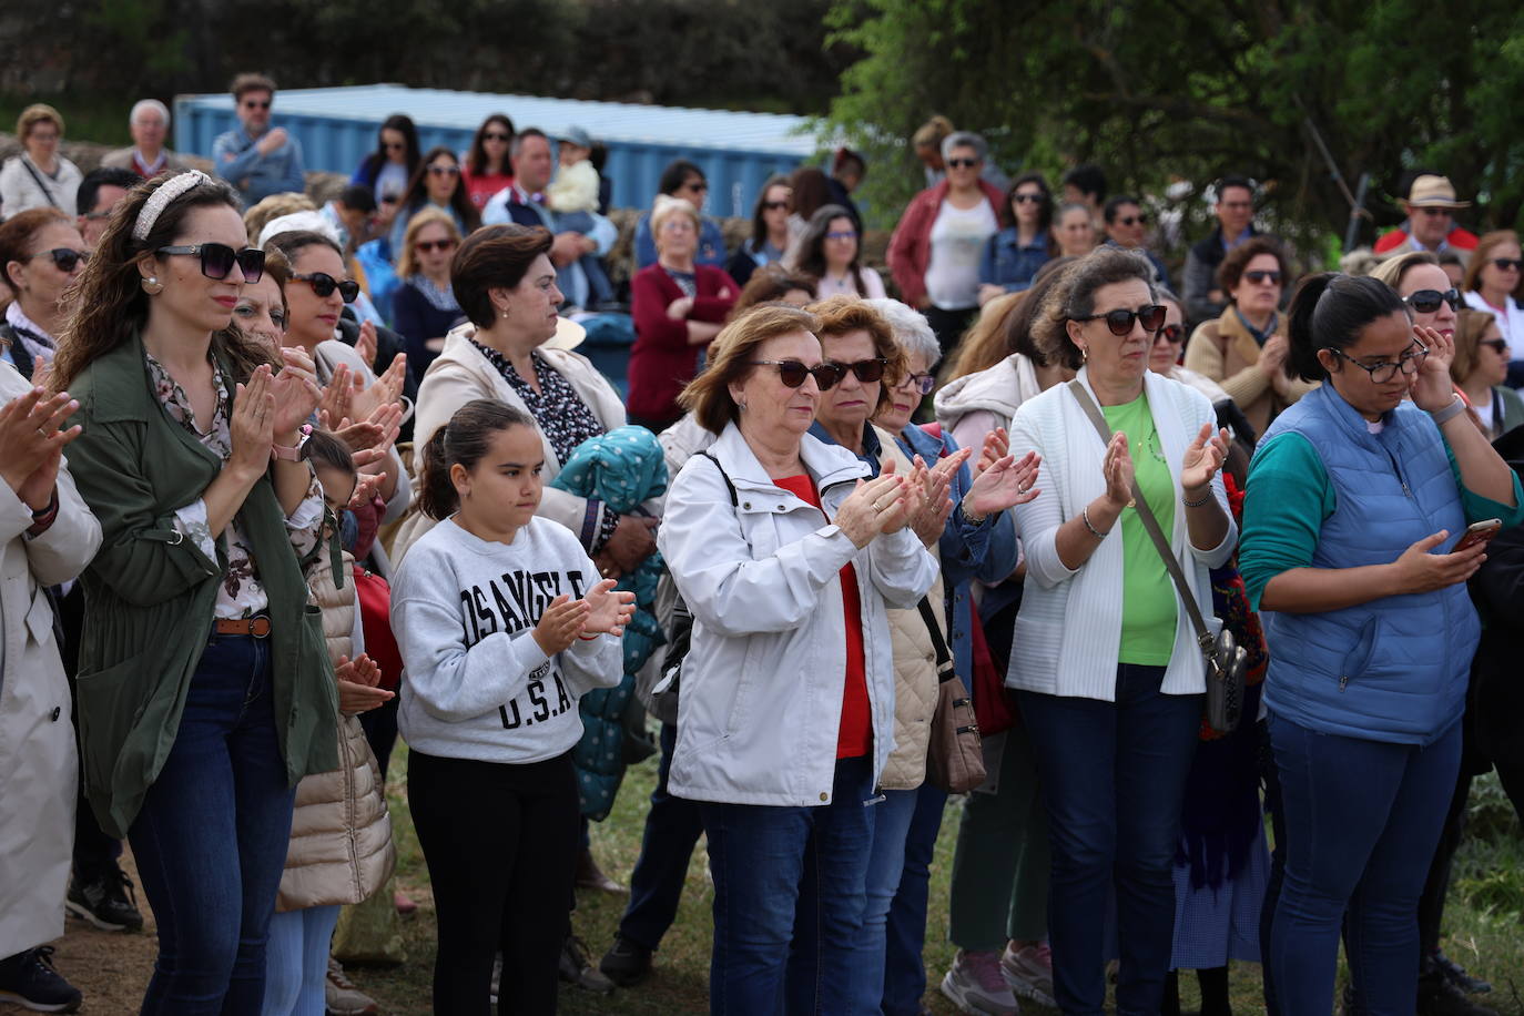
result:
M 69 323 L 64 291 L 79 277 L 88 253 L 75 221 L 58 209 L 29 209 L 0 225 L 0 270 L 15 294 L 0 320 L 6 359 L 23 378 L 53 358 Z

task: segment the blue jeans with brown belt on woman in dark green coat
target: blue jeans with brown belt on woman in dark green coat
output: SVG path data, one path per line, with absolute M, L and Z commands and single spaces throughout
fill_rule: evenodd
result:
M 294 801 L 276 733 L 270 644 L 213 635 L 128 836 L 158 922 L 146 1016 L 259 1013 Z

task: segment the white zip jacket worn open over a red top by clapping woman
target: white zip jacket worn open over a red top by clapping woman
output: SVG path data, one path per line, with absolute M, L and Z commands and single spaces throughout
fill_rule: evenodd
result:
M 672 483 L 657 544 L 693 612 L 683 663 L 672 794 L 735 804 L 828 804 L 837 765 L 846 637 L 838 576 L 852 564 L 873 724 L 873 781 L 895 748 L 888 606 L 914 606 L 936 559 L 905 529 L 866 548 L 829 521 L 869 469 L 805 436 L 824 516 L 768 477 L 732 423 Z

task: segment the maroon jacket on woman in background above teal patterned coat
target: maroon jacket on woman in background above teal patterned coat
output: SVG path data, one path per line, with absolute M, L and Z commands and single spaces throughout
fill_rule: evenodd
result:
M 741 286 L 721 268 L 696 265 L 698 296 L 683 320 L 666 315 L 668 305 L 683 297 L 683 289 L 660 264 L 648 265 L 629 280 L 629 314 L 636 320 L 636 346 L 629 350 L 631 416 L 669 420 L 683 414 L 677 396 L 693 379 L 704 346 L 687 341 L 687 321 L 719 324 L 730 314 Z

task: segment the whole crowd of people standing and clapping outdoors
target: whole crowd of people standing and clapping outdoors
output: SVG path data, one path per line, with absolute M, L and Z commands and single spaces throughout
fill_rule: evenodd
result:
M 1177 296 L 1149 198 L 934 117 L 887 279 L 855 152 L 735 250 L 677 160 L 623 302 L 585 131 L 395 114 L 319 207 L 232 91 L 210 171 L 152 99 L 90 174 L 29 107 L 0 168 L 0 1001 L 81 1005 L 66 911 L 143 926 L 125 842 L 142 1011 L 378 1011 L 402 737 L 439 1013 L 639 990 L 700 838 L 710 1011 L 925 1013 L 960 794 L 960 1011 L 1100 1013 L 1114 963 L 1221 1016 L 1234 961 L 1274 1014 L 1492 1011 L 1442 929 L 1472 780 L 1524 816 L 1524 257 L 1445 177 L 1298 277 L 1225 175 Z M 576 352 L 620 320 L 628 379 Z

